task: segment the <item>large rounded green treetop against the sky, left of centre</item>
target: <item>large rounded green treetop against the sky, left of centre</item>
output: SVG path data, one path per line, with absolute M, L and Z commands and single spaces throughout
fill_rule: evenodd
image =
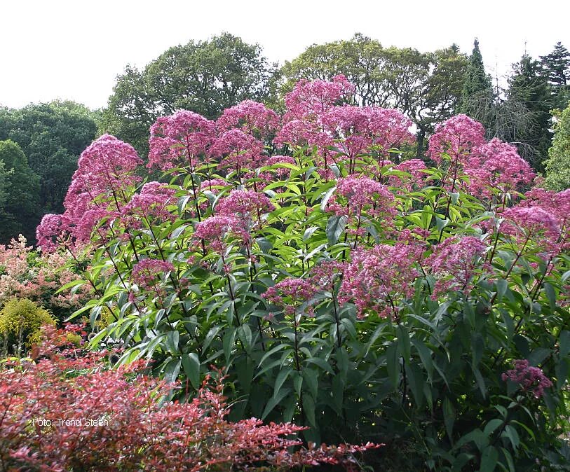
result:
M 149 127 L 158 116 L 185 109 L 215 119 L 245 99 L 267 101 L 275 69 L 259 45 L 228 33 L 175 46 L 142 71 L 128 66 L 118 76 L 100 131 L 146 154 Z

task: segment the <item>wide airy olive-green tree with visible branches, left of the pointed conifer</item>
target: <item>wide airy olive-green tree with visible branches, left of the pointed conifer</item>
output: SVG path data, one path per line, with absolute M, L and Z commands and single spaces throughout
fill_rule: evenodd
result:
M 467 61 L 457 46 L 435 53 L 413 48 L 383 48 L 379 41 L 355 34 L 349 41 L 309 46 L 280 69 L 281 93 L 300 78 L 330 79 L 343 74 L 355 85 L 362 105 L 397 108 L 416 125 L 417 155 L 433 123 L 456 111 Z

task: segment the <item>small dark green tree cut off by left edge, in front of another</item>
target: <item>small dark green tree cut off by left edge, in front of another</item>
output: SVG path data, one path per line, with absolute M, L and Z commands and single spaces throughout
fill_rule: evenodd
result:
M 3 162 L 5 201 L 0 207 L 0 244 L 6 244 L 22 233 L 35 239 L 39 209 L 39 176 L 29 168 L 27 158 L 14 141 L 0 141 L 0 162 Z

